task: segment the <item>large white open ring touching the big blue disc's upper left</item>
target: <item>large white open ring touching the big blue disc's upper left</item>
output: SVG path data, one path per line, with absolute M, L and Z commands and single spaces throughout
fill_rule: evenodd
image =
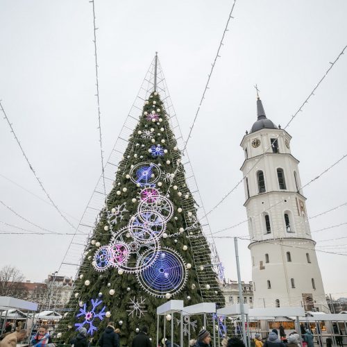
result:
M 158 241 L 152 239 L 151 243 L 139 242 L 131 235 L 128 228 L 123 228 L 112 236 L 110 248 L 113 248 L 115 244 L 125 244 L 128 248 L 128 257 L 126 257 L 123 262 L 115 262 L 114 264 L 117 269 L 123 270 L 126 273 L 137 273 L 151 266 L 157 259 L 160 251 L 160 244 Z M 145 253 L 151 253 L 151 255 L 147 256 L 146 260 L 143 260 L 141 264 L 139 264 L 139 260 L 142 260 L 142 255 Z

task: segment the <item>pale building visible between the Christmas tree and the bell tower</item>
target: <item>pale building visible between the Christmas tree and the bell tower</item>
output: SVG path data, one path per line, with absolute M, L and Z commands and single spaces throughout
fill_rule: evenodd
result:
M 253 308 L 253 284 L 242 281 L 242 301 Z M 221 291 L 226 298 L 226 305 L 239 303 L 239 285 L 235 280 L 225 280 L 221 285 Z

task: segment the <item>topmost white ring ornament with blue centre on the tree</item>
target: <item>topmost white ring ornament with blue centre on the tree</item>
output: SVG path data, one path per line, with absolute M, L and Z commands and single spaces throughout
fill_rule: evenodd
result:
M 153 162 L 139 162 L 130 170 L 130 180 L 142 187 L 154 187 L 160 179 L 161 171 Z

